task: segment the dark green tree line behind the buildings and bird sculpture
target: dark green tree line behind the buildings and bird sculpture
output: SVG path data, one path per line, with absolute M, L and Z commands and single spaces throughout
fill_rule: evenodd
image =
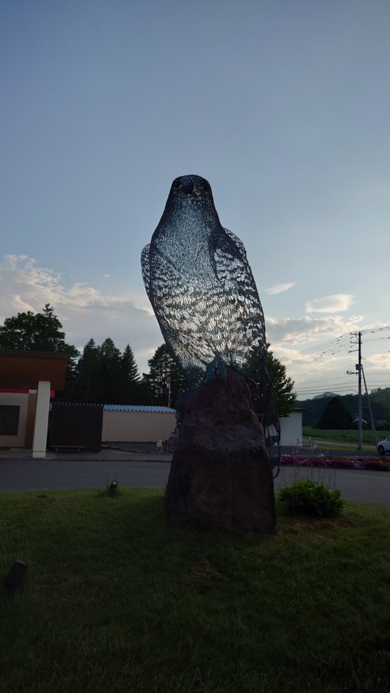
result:
M 268 348 L 269 376 L 274 388 L 276 405 L 281 416 L 294 409 L 294 383 L 286 369 Z M 186 380 L 161 344 L 148 360 L 148 373 L 139 373 L 130 344 L 118 349 L 110 337 L 102 344 L 90 339 L 82 353 L 65 341 L 62 324 L 54 308 L 46 304 L 42 313 L 18 313 L 5 319 L 0 326 L 0 349 L 24 351 L 55 351 L 69 356 L 67 380 L 57 401 L 91 404 L 127 404 L 175 407 L 177 395 L 187 388 Z M 262 354 L 254 354 L 248 364 L 248 375 L 256 380 L 263 363 Z

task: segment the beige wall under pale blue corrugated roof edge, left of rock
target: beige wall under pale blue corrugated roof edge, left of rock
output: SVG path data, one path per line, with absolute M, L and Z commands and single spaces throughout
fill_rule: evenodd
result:
M 175 430 L 175 414 L 162 412 L 103 412 L 103 441 L 155 443 Z

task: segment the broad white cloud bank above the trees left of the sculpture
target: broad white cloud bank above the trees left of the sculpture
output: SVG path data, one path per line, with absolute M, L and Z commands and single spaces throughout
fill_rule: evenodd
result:
M 0 323 L 6 317 L 50 303 L 64 325 L 66 339 L 78 349 L 91 337 L 101 344 L 112 337 L 119 349 L 130 343 L 140 371 L 163 342 L 148 297 L 141 292 L 108 296 L 82 282 L 64 286 L 62 275 L 37 267 L 33 258 L 8 255 L 0 263 Z

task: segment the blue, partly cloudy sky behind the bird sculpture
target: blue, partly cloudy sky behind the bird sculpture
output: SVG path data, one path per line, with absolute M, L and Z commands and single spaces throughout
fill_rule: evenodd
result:
M 389 31 L 387 0 L 3 0 L 0 321 L 50 301 L 69 342 L 147 370 L 141 249 L 197 173 L 299 394 L 355 388 L 349 340 L 320 354 L 390 324 Z M 364 339 L 371 387 L 388 335 Z

